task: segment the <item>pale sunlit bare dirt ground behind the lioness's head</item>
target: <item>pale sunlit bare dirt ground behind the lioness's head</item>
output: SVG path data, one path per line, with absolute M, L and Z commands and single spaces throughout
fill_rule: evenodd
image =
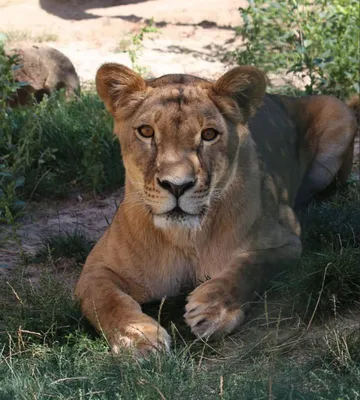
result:
M 15 33 L 15 39 L 53 37 L 56 40 L 48 44 L 70 58 L 83 81 L 91 81 L 103 62 L 131 66 L 129 55 L 117 48 L 153 19 L 159 33 L 145 38 L 139 64 L 148 66 L 154 76 L 179 72 L 213 77 L 224 71 L 222 55 L 240 44 L 240 38 L 234 40 L 234 29 L 240 23 L 238 7 L 245 4 L 241 0 L 224 0 L 221 6 L 218 0 L 0 0 L 0 26 Z

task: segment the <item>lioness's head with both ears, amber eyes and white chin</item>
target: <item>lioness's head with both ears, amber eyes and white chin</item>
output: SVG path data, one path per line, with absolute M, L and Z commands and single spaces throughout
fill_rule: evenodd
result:
M 201 226 L 234 175 L 241 135 L 265 93 L 264 75 L 243 66 L 213 83 L 190 75 L 145 81 L 105 64 L 96 86 L 114 117 L 128 200 L 141 202 L 160 228 Z

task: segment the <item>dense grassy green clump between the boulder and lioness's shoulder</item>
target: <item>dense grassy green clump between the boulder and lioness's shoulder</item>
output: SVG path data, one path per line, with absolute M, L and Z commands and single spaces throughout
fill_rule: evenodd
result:
M 66 101 L 62 94 L 14 114 L 11 166 L 24 191 L 52 196 L 71 189 L 120 186 L 123 168 L 109 114 L 95 93 Z M 33 193 L 34 194 L 34 193 Z

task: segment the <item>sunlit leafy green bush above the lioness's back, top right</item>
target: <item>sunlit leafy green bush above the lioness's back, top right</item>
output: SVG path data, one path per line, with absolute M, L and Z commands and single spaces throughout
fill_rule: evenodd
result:
M 307 94 L 347 98 L 359 93 L 357 0 L 250 0 L 237 29 L 245 48 L 239 64 L 308 78 Z

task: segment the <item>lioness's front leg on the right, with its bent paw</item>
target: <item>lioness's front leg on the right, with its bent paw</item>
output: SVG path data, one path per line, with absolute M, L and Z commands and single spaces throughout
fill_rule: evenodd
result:
M 244 311 L 256 293 L 301 254 L 296 236 L 286 245 L 239 255 L 220 275 L 198 286 L 188 297 L 185 320 L 200 337 L 232 332 L 244 321 Z

